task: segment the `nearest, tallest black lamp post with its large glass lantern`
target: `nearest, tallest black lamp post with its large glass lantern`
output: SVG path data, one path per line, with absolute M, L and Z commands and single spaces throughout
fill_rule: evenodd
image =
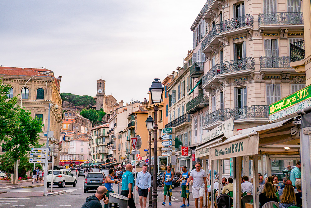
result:
M 155 111 L 155 123 L 154 123 L 154 153 L 153 153 L 153 189 L 152 189 L 152 208 L 157 208 L 158 201 L 158 188 L 156 186 L 156 164 L 157 164 L 157 136 L 158 136 L 158 106 L 162 101 L 164 87 L 162 83 L 159 82 L 160 79 L 156 78 L 152 82 L 151 87 L 149 88 L 151 95 L 151 103 L 154 105 Z

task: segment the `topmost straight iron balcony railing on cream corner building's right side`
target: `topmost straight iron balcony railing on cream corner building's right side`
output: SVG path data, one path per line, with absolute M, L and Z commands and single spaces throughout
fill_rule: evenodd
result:
M 259 25 L 303 25 L 304 15 L 302 12 L 271 12 L 259 13 Z

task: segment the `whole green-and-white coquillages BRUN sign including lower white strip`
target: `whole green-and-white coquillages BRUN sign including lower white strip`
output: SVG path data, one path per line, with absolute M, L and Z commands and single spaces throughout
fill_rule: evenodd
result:
M 280 119 L 311 106 L 311 85 L 290 94 L 269 106 L 269 121 Z

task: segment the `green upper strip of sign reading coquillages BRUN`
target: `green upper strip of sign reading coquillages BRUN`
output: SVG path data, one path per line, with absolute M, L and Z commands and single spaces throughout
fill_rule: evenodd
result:
M 269 114 L 275 114 L 309 98 L 311 98 L 311 85 L 306 86 L 305 88 L 300 89 L 297 92 L 269 105 Z

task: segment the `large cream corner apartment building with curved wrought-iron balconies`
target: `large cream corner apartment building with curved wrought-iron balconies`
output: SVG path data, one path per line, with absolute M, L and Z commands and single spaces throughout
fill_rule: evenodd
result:
M 300 0 L 206 2 L 190 28 L 195 89 L 186 113 L 196 111 L 194 144 L 231 117 L 234 130 L 266 124 L 269 104 L 306 85 L 290 67 L 290 43 L 303 40 L 302 7 Z

